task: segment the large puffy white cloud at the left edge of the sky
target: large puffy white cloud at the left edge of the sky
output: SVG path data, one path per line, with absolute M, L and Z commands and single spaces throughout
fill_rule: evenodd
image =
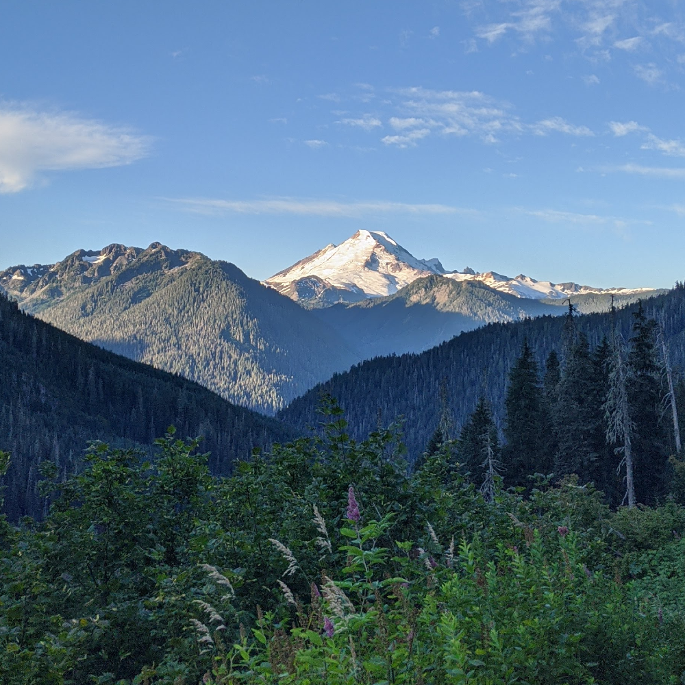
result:
M 0 193 L 25 190 L 45 171 L 131 164 L 149 153 L 151 142 L 71 112 L 0 104 Z

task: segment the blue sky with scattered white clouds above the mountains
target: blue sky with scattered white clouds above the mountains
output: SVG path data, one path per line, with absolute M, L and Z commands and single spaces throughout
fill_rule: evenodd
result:
M 0 269 L 160 240 L 268 277 L 685 278 L 676 1 L 3 2 Z

